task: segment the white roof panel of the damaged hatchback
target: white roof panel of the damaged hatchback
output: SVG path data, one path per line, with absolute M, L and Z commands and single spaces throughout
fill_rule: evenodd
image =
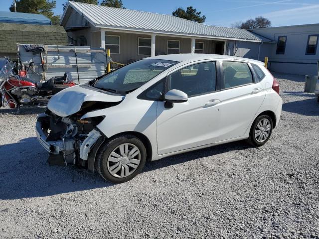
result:
M 168 61 L 178 61 L 178 62 L 192 62 L 192 61 L 200 61 L 200 60 L 208 60 L 208 59 L 222 59 L 222 60 L 240 60 L 247 61 L 251 63 L 255 63 L 258 65 L 264 64 L 261 61 L 236 57 L 236 56 L 227 56 L 227 55 L 217 55 L 217 54 L 195 54 L 195 53 L 187 53 L 187 54 L 171 54 L 171 55 L 160 55 L 160 56 L 151 56 L 149 59 L 160 59 L 160 60 L 168 60 Z

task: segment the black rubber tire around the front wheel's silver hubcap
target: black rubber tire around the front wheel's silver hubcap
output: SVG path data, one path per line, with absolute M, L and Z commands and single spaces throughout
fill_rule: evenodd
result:
M 137 146 L 138 149 L 140 150 L 140 163 L 138 167 L 135 169 L 135 171 L 133 171 L 129 176 L 119 178 L 119 177 L 113 176 L 110 173 L 108 169 L 108 158 L 110 154 L 113 152 L 113 150 L 115 150 L 121 144 L 130 144 L 130 145 Z M 142 171 L 146 162 L 146 156 L 147 156 L 147 152 L 146 152 L 145 145 L 139 138 L 131 134 L 120 135 L 118 137 L 111 138 L 109 141 L 105 142 L 100 147 L 96 157 L 95 167 L 98 173 L 105 180 L 110 181 L 112 183 L 124 183 L 133 179 L 136 175 L 138 175 Z M 122 170 L 122 166 L 121 166 L 121 170 Z

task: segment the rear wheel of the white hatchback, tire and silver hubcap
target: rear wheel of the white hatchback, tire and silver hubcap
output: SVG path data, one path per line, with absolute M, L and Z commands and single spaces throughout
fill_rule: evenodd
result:
M 270 138 L 273 131 L 273 120 L 267 115 L 255 119 L 250 129 L 248 143 L 255 147 L 264 145 Z

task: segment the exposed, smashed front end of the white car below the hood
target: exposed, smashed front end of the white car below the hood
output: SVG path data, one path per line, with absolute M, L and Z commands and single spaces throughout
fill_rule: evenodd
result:
M 50 164 L 88 164 L 88 156 L 102 133 L 96 129 L 104 117 L 80 120 L 82 114 L 60 117 L 50 111 L 38 116 L 36 123 L 37 138 L 50 153 Z M 98 148 L 97 148 L 98 149 Z M 97 150 L 96 149 L 96 150 Z M 96 153 L 96 152 L 95 152 Z M 82 163 L 82 164 L 81 164 Z M 93 163 L 94 165 L 94 163 Z

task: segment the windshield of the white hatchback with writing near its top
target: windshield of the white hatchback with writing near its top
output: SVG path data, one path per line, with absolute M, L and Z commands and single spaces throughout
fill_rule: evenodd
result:
M 126 94 L 141 87 L 176 63 L 178 62 L 160 59 L 139 60 L 105 75 L 93 86 L 106 91 Z

